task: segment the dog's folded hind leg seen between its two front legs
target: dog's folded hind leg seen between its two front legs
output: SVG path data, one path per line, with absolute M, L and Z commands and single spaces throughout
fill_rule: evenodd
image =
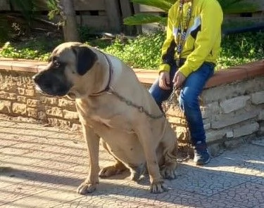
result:
M 127 167 L 125 167 L 125 165 L 120 160 L 118 160 L 118 158 L 115 157 L 115 155 L 113 155 L 107 143 L 102 141 L 102 145 L 103 148 L 105 148 L 108 151 L 108 153 L 113 156 L 113 158 L 115 159 L 115 164 L 108 167 L 103 167 L 99 172 L 99 177 L 107 178 L 115 174 L 121 174 L 122 171 L 125 171 Z

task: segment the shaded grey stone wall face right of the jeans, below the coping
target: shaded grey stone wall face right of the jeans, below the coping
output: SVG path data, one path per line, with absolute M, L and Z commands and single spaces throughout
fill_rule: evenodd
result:
M 203 122 L 207 141 L 215 143 L 264 133 L 264 77 L 206 89 Z

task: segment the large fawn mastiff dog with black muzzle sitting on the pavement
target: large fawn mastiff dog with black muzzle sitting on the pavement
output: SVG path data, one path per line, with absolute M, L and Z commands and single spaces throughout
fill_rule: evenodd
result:
M 163 178 L 176 176 L 175 132 L 130 67 L 96 48 L 67 42 L 54 49 L 46 69 L 33 79 L 40 92 L 76 101 L 89 151 L 89 174 L 78 193 L 92 193 L 99 176 L 125 169 L 134 181 L 146 169 L 151 193 L 167 190 Z M 101 171 L 100 138 L 115 159 Z

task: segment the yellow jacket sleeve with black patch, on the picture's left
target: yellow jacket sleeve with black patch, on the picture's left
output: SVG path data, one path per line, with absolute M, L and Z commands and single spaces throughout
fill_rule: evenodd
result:
M 175 54 L 175 40 L 173 37 L 173 25 L 172 18 L 174 16 L 174 6 L 170 8 L 168 13 L 168 25 L 167 25 L 167 34 L 166 39 L 163 42 L 161 48 L 161 65 L 159 67 L 159 72 L 170 71 L 171 65 L 174 63 L 174 54 Z

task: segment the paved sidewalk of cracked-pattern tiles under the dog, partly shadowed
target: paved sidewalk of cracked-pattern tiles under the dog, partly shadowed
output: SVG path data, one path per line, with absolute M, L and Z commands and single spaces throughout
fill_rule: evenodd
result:
M 100 166 L 112 162 L 101 149 Z M 0 207 L 264 207 L 264 139 L 227 150 L 205 167 L 182 162 L 167 193 L 128 173 L 75 193 L 87 176 L 82 136 L 0 116 Z

